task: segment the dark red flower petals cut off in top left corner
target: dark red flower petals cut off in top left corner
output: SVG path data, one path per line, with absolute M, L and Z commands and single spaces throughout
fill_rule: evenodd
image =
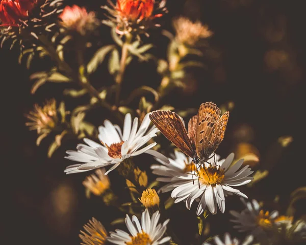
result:
M 37 0 L 0 0 L 2 25 L 16 25 L 28 17 Z

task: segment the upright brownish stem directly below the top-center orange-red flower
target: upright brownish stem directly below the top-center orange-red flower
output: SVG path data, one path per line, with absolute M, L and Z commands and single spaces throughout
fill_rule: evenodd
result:
M 122 84 L 122 80 L 123 80 L 123 75 L 125 72 L 125 68 L 126 68 L 126 59 L 129 56 L 129 45 L 132 41 L 132 35 L 131 34 L 127 34 L 125 36 L 125 42 L 122 46 L 122 53 L 121 53 L 121 59 L 120 59 L 120 69 L 117 73 L 116 76 L 116 101 L 115 104 L 116 106 L 119 106 L 120 104 L 120 93 L 121 93 L 121 84 Z

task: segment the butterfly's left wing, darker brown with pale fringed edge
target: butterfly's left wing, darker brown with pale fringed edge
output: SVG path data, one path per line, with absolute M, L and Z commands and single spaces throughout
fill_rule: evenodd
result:
M 149 115 L 152 123 L 180 150 L 193 157 L 192 143 L 187 135 L 183 118 L 172 111 L 153 111 Z

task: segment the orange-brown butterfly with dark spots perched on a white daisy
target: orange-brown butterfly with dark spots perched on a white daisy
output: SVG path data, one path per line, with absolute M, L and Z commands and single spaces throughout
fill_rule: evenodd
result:
M 193 159 L 193 162 L 207 162 L 224 138 L 230 112 L 221 115 L 213 102 L 200 105 L 197 115 L 188 123 L 188 132 L 181 116 L 172 111 L 153 111 L 149 117 L 152 123 L 174 145 Z

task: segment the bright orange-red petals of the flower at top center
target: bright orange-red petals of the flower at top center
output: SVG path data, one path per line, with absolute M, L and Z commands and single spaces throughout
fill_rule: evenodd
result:
M 117 10 L 121 17 L 139 22 L 151 17 L 154 3 L 155 0 L 117 0 Z

